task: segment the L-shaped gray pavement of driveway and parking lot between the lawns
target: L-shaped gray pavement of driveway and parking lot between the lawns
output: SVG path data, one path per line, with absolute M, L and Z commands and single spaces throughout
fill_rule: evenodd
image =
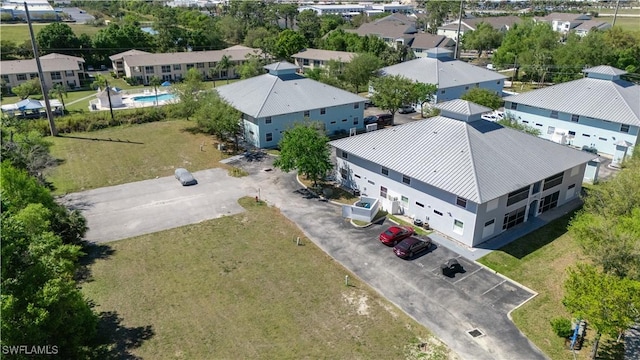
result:
M 244 178 L 212 169 L 194 173 L 199 184 L 193 187 L 167 177 L 70 194 L 64 202 L 84 210 L 87 239 L 104 242 L 241 212 L 239 197 L 260 194 L 461 358 L 546 358 L 508 319 L 532 292 L 438 244 L 412 260 L 399 259 L 377 240 L 388 223 L 353 227 L 341 218 L 340 206 L 296 193 L 301 186 L 295 175 L 272 170 L 270 161 L 232 160 L 249 173 Z M 450 258 L 457 258 L 465 272 L 443 276 L 440 264 Z

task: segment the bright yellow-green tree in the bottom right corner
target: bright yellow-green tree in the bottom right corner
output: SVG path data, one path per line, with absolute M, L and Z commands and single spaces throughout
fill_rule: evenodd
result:
M 564 306 L 577 318 L 586 319 L 596 330 L 592 359 L 600 336 L 620 336 L 638 321 L 640 282 L 600 272 L 595 266 L 578 264 L 568 270 Z

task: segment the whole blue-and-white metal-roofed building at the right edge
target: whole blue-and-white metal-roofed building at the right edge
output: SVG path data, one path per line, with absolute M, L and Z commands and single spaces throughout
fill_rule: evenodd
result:
M 519 123 L 561 144 L 595 149 L 619 165 L 640 133 L 640 86 L 622 80 L 611 66 L 583 70 L 585 77 L 508 96 L 505 111 Z

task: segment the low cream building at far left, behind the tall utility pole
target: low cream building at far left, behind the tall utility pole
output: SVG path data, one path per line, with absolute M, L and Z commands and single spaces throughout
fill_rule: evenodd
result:
M 84 59 L 51 53 L 40 57 L 44 81 L 47 88 L 61 84 L 68 89 L 80 87 L 85 79 Z M 35 59 L 6 60 L 0 62 L 0 76 L 8 91 L 28 80 L 38 78 L 38 66 Z

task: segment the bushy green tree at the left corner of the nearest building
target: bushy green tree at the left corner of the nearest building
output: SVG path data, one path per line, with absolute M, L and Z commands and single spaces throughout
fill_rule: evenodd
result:
M 333 167 L 328 141 L 317 123 L 295 124 L 284 132 L 279 144 L 280 156 L 273 166 L 284 172 L 297 170 L 317 186 L 318 180 Z

